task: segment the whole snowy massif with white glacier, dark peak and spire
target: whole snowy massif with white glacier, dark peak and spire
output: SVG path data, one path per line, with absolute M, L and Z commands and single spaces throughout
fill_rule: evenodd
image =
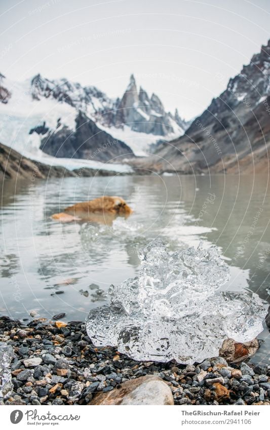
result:
M 0 142 L 26 157 L 46 153 L 61 159 L 123 163 L 145 155 L 161 139 L 180 136 L 185 123 L 177 111 L 166 112 L 155 94 L 149 98 L 141 88 L 138 92 L 133 75 L 123 97 L 111 99 L 94 86 L 66 79 L 48 80 L 37 74 L 19 83 L 1 74 L 0 127 Z

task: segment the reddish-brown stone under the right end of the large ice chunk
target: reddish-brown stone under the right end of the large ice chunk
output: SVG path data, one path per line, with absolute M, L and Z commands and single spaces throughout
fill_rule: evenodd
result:
M 259 342 L 257 339 L 245 343 L 225 339 L 219 349 L 219 356 L 223 357 L 228 363 L 240 363 L 255 354 L 258 348 Z

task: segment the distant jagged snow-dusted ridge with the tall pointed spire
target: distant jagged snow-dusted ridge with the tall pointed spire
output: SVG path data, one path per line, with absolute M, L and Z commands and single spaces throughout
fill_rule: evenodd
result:
M 133 131 L 159 137 L 180 135 L 185 129 L 177 109 L 175 115 L 165 112 L 156 94 L 149 98 L 141 87 L 137 90 L 133 74 L 122 98 L 110 99 L 96 87 L 82 87 L 66 79 L 49 81 L 40 74 L 31 81 L 31 95 L 35 100 L 46 97 L 65 102 L 107 128 L 124 130 L 127 125 Z

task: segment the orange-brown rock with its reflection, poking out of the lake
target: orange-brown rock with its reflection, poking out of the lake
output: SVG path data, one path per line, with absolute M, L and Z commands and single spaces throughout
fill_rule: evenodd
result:
M 89 202 L 76 203 L 66 208 L 64 212 L 52 215 L 52 218 L 61 222 L 88 220 L 111 224 L 115 217 L 127 218 L 131 213 L 132 209 L 121 197 L 104 196 Z

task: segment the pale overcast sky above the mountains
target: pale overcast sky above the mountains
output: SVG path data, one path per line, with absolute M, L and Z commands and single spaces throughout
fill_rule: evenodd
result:
M 266 44 L 269 0 L 1 0 L 0 72 L 122 95 L 138 86 L 186 119 Z

